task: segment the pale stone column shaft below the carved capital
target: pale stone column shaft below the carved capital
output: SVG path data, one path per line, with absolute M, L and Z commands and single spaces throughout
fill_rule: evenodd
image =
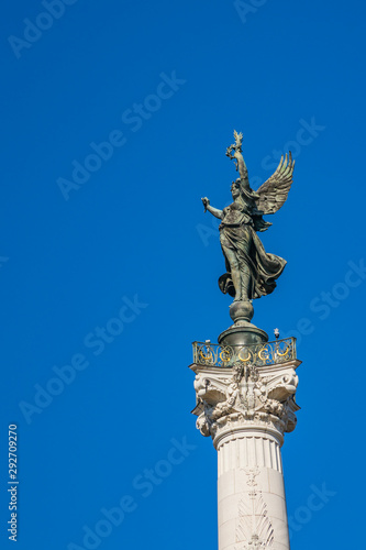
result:
M 289 550 L 280 440 L 234 430 L 217 446 L 219 550 Z

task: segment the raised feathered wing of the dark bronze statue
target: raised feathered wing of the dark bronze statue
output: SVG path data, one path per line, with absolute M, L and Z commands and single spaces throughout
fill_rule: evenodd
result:
M 292 184 L 293 167 L 295 161 L 290 152 L 285 158 L 281 156 L 275 174 L 259 187 L 257 190 L 259 199 L 256 200 L 256 205 L 263 213 L 275 213 L 286 202 Z

